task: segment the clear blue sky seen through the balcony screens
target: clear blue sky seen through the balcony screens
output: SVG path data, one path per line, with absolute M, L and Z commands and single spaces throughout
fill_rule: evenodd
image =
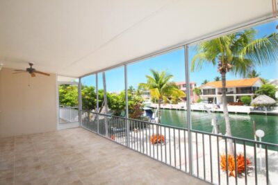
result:
M 267 24 L 262 24 L 260 26 L 254 26 L 257 30 L 256 38 L 269 35 L 277 31 L 275 27 L 278 21 L 271 21 Z M 189 61 L 196 54 L 195 47 L 190 46 L 189 48 Z M 190 65 L 189 65 L 190 66 Z M 185 65 L 184 65 L 184 53 L 183 49 L 178 49 L 171 51 L 170 53 L 165 53 L 163 55 L 158 55 L 154 58 L 149 58 L 146 60 L 141 60 L 133 64 L 129 64 L 128 68 L 128 85 L 132 85 L 137 88 L 140 82 L 146 82 L 145 76 L 148 75 L 149 69 L 155 69 L 158 71 L 167 70 L 168 73 L 174 75 L 172 79 L 174 82 L 185 81 Z M 272 62 L 272 64 L 265 65 L 263 67 L 256 67 L 255 69 L 258 73 L 261 73 L 262 78 L 266 79 L 278 79 L 278 61 Z M 206 64 L 201 71 L 190 72 L 190 81 L 197 82 L 197 85 L 201 85 L 204 80 L 213 81 L 215 76 L 220 76 L 217 72 L 217 67 L 213 67 L 211 64 Z M 99 89 L 103 88 L 102 85 L 102 75 L 99 73 Z M 227 74 L 227 79 L 238 79 L 240 76 L 234 76 L 233 73 Z M 87 76 L 82 78 L 81 82 L 84 85 L 94 85 L 95 86 L 95 76 Z M 124 90 L 124 67 L 119 67 L 117 69 L 111 69 L 106 71 L 106 86 L 108 91 L 119 92 Z

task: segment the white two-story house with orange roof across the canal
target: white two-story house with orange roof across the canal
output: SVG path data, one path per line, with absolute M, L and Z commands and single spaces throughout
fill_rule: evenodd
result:
M 263 85 L 260 78 L 245 78 L 240 80 L 227 80 L 227 102 L 236 102 L 241 96 L 251 96 Z M 207 103 L 222 103 L 222 81 L 208 82 L 199 87 L 202 90 L 200 98 Z

